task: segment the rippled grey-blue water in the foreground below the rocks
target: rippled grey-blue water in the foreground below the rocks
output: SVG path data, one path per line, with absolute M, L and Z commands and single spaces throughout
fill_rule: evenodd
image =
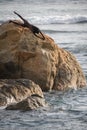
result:
M 49 108 L 31 112 L 0 109 L 0 130 L 86 130 L 87 88 L 45 93 Z

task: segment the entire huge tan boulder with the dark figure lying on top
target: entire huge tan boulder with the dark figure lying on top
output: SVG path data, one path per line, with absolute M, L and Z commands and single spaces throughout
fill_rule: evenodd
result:
M 76 58 L 44 36 L 42 40 L 28 28 L 13 23 L 1 25 L 0 78 L 27 78 L 44 91 L 85 86 L 85 76 Z

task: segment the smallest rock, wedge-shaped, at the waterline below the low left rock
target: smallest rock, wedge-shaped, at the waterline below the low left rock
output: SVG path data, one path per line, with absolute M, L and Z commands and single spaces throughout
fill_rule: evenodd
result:
M 33 109 L 37 109 L 39 107 L 46 107 L 47 104 L 44 98 L 38 95 L 31 95 L 30 97 L 24 99 L 21 102 L 16 104 L 11 104 L 7 106 L 7 110 L 22 110 L 22 111 L 29 111 Z

